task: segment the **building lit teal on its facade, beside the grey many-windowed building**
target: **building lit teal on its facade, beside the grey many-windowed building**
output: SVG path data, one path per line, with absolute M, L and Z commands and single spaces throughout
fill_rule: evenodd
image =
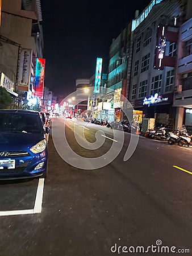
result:
M 115 116 L 118 119 L 122 116 L 123 100 L 120 95 L 126 96 L 127 64 L 128 57 L 131 57 L 130 43 L 131 23 L 122 30 L 116 39 L 112 39 L 110 46 L 107 79 L 107 96 L 113 105 L 112 109 L 110 109 L 110 121 L 114 121 Z

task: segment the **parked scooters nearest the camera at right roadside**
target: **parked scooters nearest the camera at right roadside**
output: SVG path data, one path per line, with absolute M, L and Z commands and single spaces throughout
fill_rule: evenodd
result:
M 178 144 L 179 146 L 190 145 L 192 135 L 187 133 L 185 125 L 181 129 L 177 129 L 174 133 L 168 127 L 161 126 L 156 130 L 149 130 L 145 133 L 145 137 L 151 139 L 158 139 L 160 141 L 168 141 L 169 144 Z

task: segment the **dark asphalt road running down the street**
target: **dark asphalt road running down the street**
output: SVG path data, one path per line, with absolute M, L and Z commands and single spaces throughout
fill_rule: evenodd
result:
M 64 129 L 64 122 L 65 119 L 55 118 L 53 123 L 56 143 L 62 137 L 57 129 Z M 68 119 L 65 134 L 69 145 L 63 145 L 61 155 L 68 155 L 70 146 L 76 154 L 89 158 L 88 166 L 94 168 L 92 158 L 106 154 L 112 143 L 115 150 L 118 148 L 119 141 L 111 129 L 82 121 L 77 121 L 76 126 L 76 137 L 87 144 L 87 149 L 78 145 L 74 121 Z M 101 148 L 91 150 L 87 142 L 95 143 L 97 130 L 108 138 L 99 132 L 98 143 L 101 137 L 105 142 Z M 124 162 L 130 134 L 124 135 L 123 148 L 115 160 L 95 170 L 84 170 L 70 166 L 60 157 L 50 134 L 44 189 L 38 185 L 39 179 L 1 181 L 0 255 L 107 256 L 118 254 L 116 247 L 112 247 L 116 252 L 111 252 L 115 243 L 117 247 L 147 248 L 156 246 L 157 240 L 163 246 L 176 246 L 176 251 L 190 249 L 189 254 L 183 255 L 192 255 L 192 176 L 185 171 L 192 172 L 192 147 L 170 146 L 140 137 L 135 152 Z M 67 160 L 73 159 L 75 162 L 74 156 L 69 155 Z M 27 209 L 36 208 L 36 203 L 41 205 L 41 212 L 26 214 Z M 18 215 L 10 215 L 13 210 L 18 210 Z M 126 254 L 122 247 L 119 252 Z M 158 255 L 151 249 L 146 254 Z

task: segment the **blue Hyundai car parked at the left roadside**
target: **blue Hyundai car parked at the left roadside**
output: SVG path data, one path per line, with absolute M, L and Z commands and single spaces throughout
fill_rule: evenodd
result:
M 47 141 L 39 112 L 0 110 L 0 179 L 46 177 Z

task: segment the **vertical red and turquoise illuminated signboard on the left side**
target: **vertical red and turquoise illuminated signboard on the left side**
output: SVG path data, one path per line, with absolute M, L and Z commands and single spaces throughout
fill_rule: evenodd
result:
M 36 58 L 35 68 L 35 96 L 43 97 L 45 75 L 45 59 Z

